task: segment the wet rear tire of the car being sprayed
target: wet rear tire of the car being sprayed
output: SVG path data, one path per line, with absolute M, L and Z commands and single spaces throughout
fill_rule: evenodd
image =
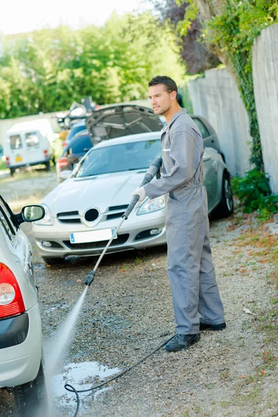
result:
M 38 413 L 39 407 L 47 400 L 46 392 L 44 368 L 42 361 L 40 361 L 40 369 L 35 379 L 13 388 L 19 416 L 30 417 L 33 415 L 31 410 Z M 38 414 L 36 415 L 38 416 Z

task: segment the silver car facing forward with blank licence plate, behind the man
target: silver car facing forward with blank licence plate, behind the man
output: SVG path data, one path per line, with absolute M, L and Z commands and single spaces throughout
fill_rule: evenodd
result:
M 214 143 L 215 147 L 218 144 Z M 161 154 L 160 132 L 140 133 L 100 142 L 68 172 L 70 177 L 42 201 L 43 220 L 33 236 L 44 261 L 60 263 L 68 255 L 102 252 L 149 165 Z M 217 149 L 204 152 L 208 211 L 233 211 L 229 172 Z M 108 252 L 142 249 L 166 242 L 165 197 L 137 204 Z

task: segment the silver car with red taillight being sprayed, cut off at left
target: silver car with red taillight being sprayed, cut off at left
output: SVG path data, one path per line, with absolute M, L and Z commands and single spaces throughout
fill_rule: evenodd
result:
M 39 205 L 15 215 L 0 196 L 0 388 L 13 387 L 24 417 L 44 401 L 44 371 L 32 248 L 19 224 L 43 216 Z

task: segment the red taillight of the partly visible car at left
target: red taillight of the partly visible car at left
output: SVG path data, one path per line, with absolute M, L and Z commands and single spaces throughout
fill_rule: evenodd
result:
M 13 272 L 0 263 L 0 318 L 15 316 L 25 311 L 22 292 Z

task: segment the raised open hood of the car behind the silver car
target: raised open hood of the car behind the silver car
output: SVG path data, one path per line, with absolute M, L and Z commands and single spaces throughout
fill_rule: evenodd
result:
M 163 124 L 152 109 L 136 104 L 118 104 L 94 111 L 86 119 L 86 127 L 93 142 L 160 131 Z

